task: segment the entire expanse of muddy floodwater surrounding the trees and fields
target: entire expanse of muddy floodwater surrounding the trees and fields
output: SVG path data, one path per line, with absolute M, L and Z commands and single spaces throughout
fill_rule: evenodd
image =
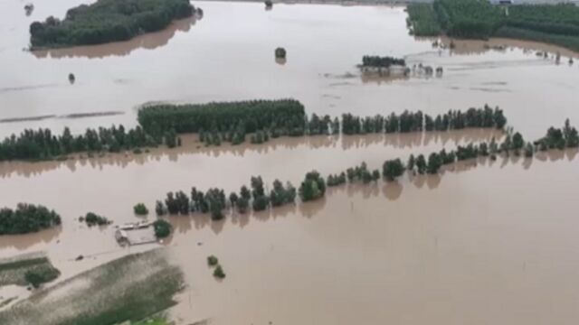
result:
M 147 102 L 252 98 L 296 98 L 308 113 L 331 116 L 405 109 L 435 115 L 488 103 L 503 108 L 508 125 L 527 139 L 566 117 L 579 124 L 579 66 L 566 60 L 574 53 L 510 40 L 432 48 L 433 40 L 408 35 L 399 6 L 275 5 L 265 11 L 262 4 L 195 2 L 204 9 L 202 19 L 129 42 L 23 51 L 29 23 L 62 17 L 82 3 L 43 1 L 30 17 L 20 2 L 0 3 L 1 13 L 11 13 L 0 21 L 0 136 L 41 126 L 58 132 L 65 125 L 73 132 L 132 126 Z M 283 65 L 274 60 L 278 46 L 288 50 Z M 556 51 L 565 58 L 561 64 L 553 59 Z M 366 78 L 356 68 L 365 54 L 404 57 L 444 73 Z M 76 75 L 72 85 L 69 73 Z M 152 209 L 169 190 L 238 190 L 252 175 L 270 185 L 275 179 L 299 185 L 313 169 L 326 176 L 363 162 L 381 168 L 386 159 L 502 136 L 474 129 L 204 147 L 196 135 L 184 135 L 182 147 L 150 153 L 0 163 L 0 206 L 43 204 L 63 219 L 59 228 L 0 237 L 0 258 L 46 252 L 62 272 L 54 289 L 61 297 L 67 279 L 81 285 L 78 274 L 166 246 L 186 283 L 169 311 L 179 324 L 573 324 L 579 318 L 573 150 L 350 184 L 328 190 L 323 200 L 219 222 L 170 217 L 175 233 L 162 245 L 120 247 L 114 225 L 88 228 L 78 220 L 94 211 L 119 225 L 140 220 L 134 204 Z M 83 259 L 75 260 L 79 255 Z M 211 274 L 208 255 L 219 256 L 223 281 Z M 18 288 L 5 292 L 24 298 Z M 50 303 L 45 307 L 54 308 Z

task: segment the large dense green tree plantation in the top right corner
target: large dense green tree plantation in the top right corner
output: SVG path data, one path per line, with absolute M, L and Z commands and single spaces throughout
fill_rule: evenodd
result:
M 409 5 L 408 14 L 408 26 L 417 36 L 498 36 L 579 50 L 579 7 L 572 4 L 499 6 L 484 0 L 435 0 Z

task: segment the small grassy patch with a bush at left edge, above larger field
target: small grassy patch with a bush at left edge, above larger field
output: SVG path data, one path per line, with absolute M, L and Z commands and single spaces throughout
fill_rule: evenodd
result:
M 60 276 L 60 271 L 42 255 L 22 255 L 0 260 L 0 287 L 10 284 L 38 288 Z

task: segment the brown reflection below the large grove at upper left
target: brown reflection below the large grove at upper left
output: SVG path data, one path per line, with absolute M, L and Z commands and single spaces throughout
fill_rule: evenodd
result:
M 176 32 L 189 32 L 200 18 L 191 16 L 171 23 L 159 32 L 146 33 L 126 42 L 112 42 L 103 45 L 76 46 L 66 49 L 31 51 L 38 59 L 88 58 L 102 59 L 109 56 L 126 56 L 137 49 L 155 50 L 165 46 Z M 71 81 L 73 83 L 74 81 Z

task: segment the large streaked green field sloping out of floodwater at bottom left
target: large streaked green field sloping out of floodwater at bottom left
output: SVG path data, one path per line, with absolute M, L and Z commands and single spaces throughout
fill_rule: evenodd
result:
M 176 304 L 183 274 L 166 251 L 128 255 L 0 311 L 1 324 L 102 325 L 140 321 Z M 75 290 L 69 290 L 75 288 Z M 81 288 L 81 289 L 78 289 Z M 57 294 L 66 291 L 66 294 Z M 71 312 L 74 311 L 74 312 Z

